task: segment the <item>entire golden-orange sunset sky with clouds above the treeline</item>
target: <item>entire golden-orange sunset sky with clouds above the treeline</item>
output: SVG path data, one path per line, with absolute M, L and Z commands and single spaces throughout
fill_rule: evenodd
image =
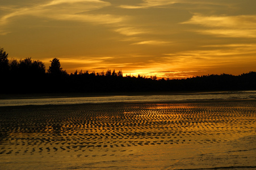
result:
M 255 0 L 0 0 L 9 59 L 187 78 L 256 71 Z

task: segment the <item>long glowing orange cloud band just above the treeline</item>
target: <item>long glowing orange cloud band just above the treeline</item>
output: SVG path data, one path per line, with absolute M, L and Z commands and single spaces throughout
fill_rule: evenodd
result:
M 144 44 L 146 43 L 144 42 Z M 216 44 L 202 46 L 200 50 L 187 50 L 158 56 L 140 56 L 136 54 L 107 57 L 73 56 L 60 57 L 60 61 L 62 67 L 68 73 L 73 73 L 76 69 L 89 70 L 89 72 L 115 69 L 123 70 L 124 75 L 137 76 L 140 74 L 145 76 L 156 75 L 158 78 L 185 78 L 201 75 L 202 71 L 209 73 L 209 70 L 219 67 L 252 67 L 256 63 L 255 46 L 256 44 Z

